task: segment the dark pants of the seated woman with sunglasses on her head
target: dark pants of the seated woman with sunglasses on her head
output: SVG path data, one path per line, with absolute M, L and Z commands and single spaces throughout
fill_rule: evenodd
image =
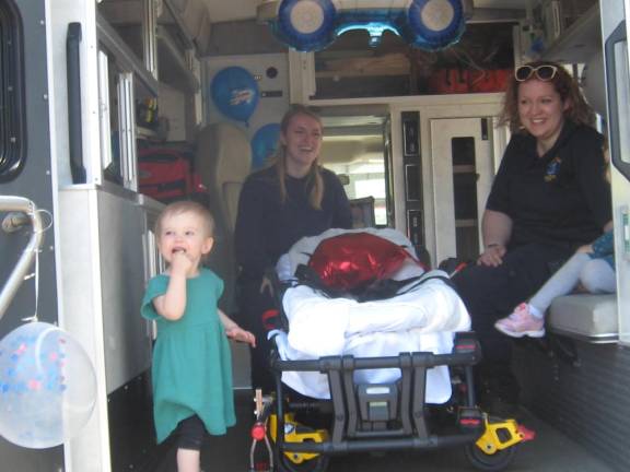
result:
M 453 278 L 481 344 L 482 375 L 512 377 L 512 341 L 494 322 L 532 296 L 571 255 L 567 248 L 530 244 L 509 251 L 497 268 L 469 266 Z M 517 398 L 517 385 L 509 394 Z

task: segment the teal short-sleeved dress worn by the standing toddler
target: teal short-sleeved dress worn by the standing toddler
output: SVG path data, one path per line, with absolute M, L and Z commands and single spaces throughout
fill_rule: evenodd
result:
M 236 418 L 230 343 L 217 311 L 223 281 L 208 269 L 188 279 L 184 316 L 170 321 L 158 315 L 152 303 L 166 293 L 168 279 L 156 275 L 149 281 L 141 308 L 144 318 L 158 323 L 152 366 L 158 442 L 194 414 L 208 433 L 225 434 Z

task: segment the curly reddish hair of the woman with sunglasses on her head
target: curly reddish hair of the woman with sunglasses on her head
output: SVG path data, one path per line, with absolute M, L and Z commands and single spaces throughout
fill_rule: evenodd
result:
M 547 82 L 553 85 L 553 90 L 560 95 L 562 103 L 570 103 L 570 106 L 564 110 L 564 118 L 570 119 L 576 125 L 593 126 L 595 123 L 595 113 L 593 108 L 591 108 L 584 99 L 575 79 L 573 79 L 561 64 L 551 61 L 534 61 L 525 66 L 532 68 L 540 66 L 555 67 L 557 69 L 556 75 Z M 525 82 L 530 80 L 536 80 L 535 74 L 532 74 L 532 78 Z M 510 131 L 513 133 L 526 132 L 518 116 L 518 87 L 525 82 L 518 82 L 514 74 L 512 74 L 505 88 L 505 98 L 503 102 L 503 110 L 499 118 L 499 125 L 509 125 Z

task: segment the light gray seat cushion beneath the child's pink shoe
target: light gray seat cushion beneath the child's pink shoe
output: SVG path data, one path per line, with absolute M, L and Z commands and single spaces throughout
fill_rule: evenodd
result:
M 619 339 L 617 295 L 575 294 L 558 297 L 549 307 L 552 332 L 593 343 Z

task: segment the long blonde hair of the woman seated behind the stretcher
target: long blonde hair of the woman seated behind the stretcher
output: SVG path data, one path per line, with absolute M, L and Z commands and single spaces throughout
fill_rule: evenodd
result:
M 313 118 L 319 128 L 324 129 L 322 119 L 312 109 L 305 107 L 304 105 L 291 105 L 289 110 L 282 117 L 280 122 L 280 132 L 285 134 L 291 121 L 296 116 L 307 116 Z M 276 168 L 276 176 L 278 177 L 278 184 L 280 186 L 280 201 L 284 203 L 287 201 L 287 146 L 282 142 L 278 143 L 278 151 L 276 156 L 271 162 L 270 166 Z M 319 165 L 319 156 L 311 165 L 311 169 L 306 175 L 307 187 L 311 187 L 311 192 L 308 193 L 308 203 L 315 210 L 322 210 L 322 199 L 324 198 L 324 178 L 322 177 L 322 167 Z

